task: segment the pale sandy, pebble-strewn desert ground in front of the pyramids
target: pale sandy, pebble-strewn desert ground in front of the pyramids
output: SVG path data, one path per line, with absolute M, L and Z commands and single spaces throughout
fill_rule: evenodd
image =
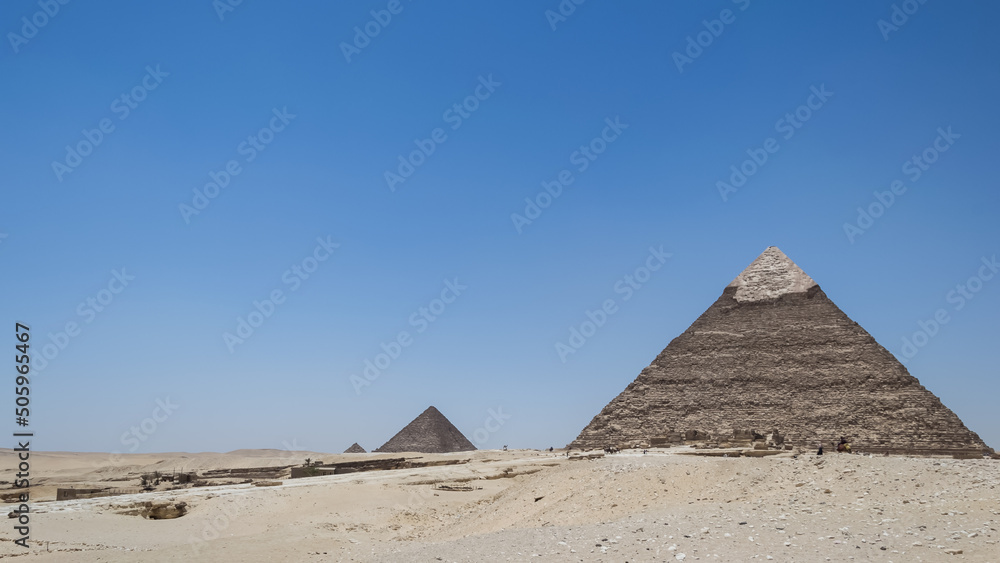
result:
M 186 500 L 191 512 L 176 520 L 115 514 L 110 505 L 125 497 L 41 503 L 29 559 L 1000 561 L 997 461 L 621 454 L 569 462 L 524 451 L 476 457 L 461 466 L 281 487 L 149 495 Z M 541 471 L 475 480 L 483 488 L 473 492 L 407 484 L 508 467 Z M 10 541 L 11 524 L 0 536 L 0 557 L 23 551 Z M 48 540 L 52 551 L 37 540 Z

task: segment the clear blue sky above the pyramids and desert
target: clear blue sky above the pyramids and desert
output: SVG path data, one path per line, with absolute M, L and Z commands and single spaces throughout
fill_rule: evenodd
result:
M 896 29 L 889 1 L 56 5 L 0 6 L 0 319 L 52 344 L 36 449 L 371 449 L 428 405 L 481 447 L 560 447 L 770 245 L 897 357 L 943 309 L 906 365 L 1000 447 L 995 3 Z

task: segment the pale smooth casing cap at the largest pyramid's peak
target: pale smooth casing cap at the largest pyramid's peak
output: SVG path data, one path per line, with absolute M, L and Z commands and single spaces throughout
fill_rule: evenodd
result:
M 777 299 L 789 293 L 805 293 L 817 285 L 777 246 L 760 253 L 728 287 L 736 288 L 740 303 Z

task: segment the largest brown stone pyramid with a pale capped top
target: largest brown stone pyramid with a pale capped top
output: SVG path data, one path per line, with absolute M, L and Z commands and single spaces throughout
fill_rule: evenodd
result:
M 569 447 L 725 442 L 775 430 L 807 448 L 845 436 L 865 452 L 989 450 L 773 246 Z

